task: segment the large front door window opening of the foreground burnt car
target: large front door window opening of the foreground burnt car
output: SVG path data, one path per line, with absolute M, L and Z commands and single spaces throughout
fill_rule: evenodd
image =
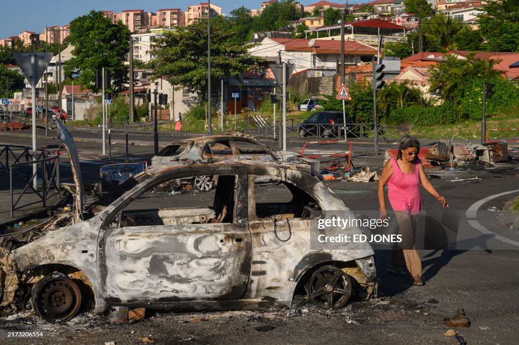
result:
M 187 187 L 194 178 L 171 179 L 148 187 L 120 211 L 111 227 L 233 223 L 236 176 L 219 175 L 215 178 L 216 187 L 209 191 Z

